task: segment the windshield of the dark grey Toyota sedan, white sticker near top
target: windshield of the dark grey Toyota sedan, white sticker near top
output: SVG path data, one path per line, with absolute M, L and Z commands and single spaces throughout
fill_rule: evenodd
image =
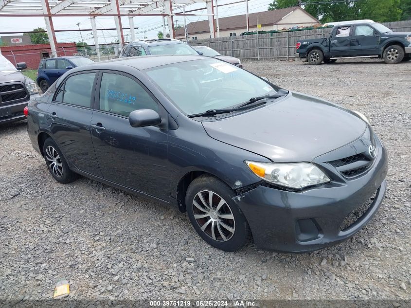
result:
M 173 63 L 145 72 L 186 114 L 234 107 L 251 97 L 276 93 L 266 81 L 216 59 Z

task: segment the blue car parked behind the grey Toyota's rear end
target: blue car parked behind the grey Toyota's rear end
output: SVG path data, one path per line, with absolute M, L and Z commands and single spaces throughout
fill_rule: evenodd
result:
M 43 59 L 40 61 L 37 71 L 37 85 L 45 92 L 62 74 L 68 70 L 94 63 L 93 60 L 83 56 L 62 56 Z

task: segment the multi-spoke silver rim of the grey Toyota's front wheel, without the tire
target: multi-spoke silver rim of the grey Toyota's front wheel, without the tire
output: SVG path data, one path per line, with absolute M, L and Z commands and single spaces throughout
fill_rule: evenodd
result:
M 228 203 L 210 190 L 194 197 L 193 213 L 200 229 L 215 241 L 228 241 L 235 232 L 235 219 Z

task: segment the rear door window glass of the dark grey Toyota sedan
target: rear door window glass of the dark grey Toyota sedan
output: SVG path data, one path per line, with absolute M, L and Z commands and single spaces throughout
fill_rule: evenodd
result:
M 90 72 L 69 77 L 64 83 L 62 102 L 90 108 L 91 90 L 93 89 L 95 75 L 95 72 Z M 59 95 L 60 93 L 57 93 L 56 101 Z

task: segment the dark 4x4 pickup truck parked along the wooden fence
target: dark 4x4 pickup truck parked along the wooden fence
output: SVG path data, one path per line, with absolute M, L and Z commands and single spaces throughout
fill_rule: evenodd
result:
M 314 65 L 357 57 L 396 64 L 411 60 L 411 33 L 393 32 L 372 20 L 338 22 L 328 38 L 298 40 L 296 48 L 296 57 Z

